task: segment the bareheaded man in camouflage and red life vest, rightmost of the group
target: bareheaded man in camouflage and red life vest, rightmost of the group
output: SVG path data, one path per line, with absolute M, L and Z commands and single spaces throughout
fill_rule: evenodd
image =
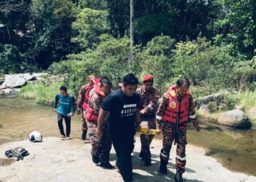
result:
M 160 153 L 160 173 L 167 174 L 167 163 L 173 141 L 176 149 L 176 175 L 174 180 L 183 181 L 182 174 L 186 165 L 187 122 L 192 121 L 195 129 L 200 130 L 195 115 L 195 105 L 189 92 L 189 80 L 178 79 L 176 85 L 171 86 L 162 96 L 157 110 L 157 131 L 162 131 L 163 141 Z

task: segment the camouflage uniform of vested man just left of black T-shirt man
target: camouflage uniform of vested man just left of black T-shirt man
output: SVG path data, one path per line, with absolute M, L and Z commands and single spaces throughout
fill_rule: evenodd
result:
M 99 96 L 97 93 L 94 93 L 94 95 L 91 95 L 91 98 L 89 100 L 89 107 L 94 108 L 95 114 L 97 116 L 99 116 L 99 109 L 102 106 L 103 100 L 104 98 Z M 89 137 L 90 137 L 91 146 L 92 146 L 91 154 L 93 156 L 99 157 L 100 162 L 102 163 L 108 162 L 110 149 L 112 146 L 108 122 L 105 122 L 103 126 L 102 137 L 98 137 L 95 133 L 98 126 L 97 121 L 86 119 L 86 122 L 88 124 Z

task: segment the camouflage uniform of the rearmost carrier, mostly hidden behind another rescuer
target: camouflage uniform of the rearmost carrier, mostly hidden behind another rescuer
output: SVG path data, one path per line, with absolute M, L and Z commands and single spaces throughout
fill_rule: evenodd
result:
M 77 103 L 77 110 L 81 111 L 81 116 L 82 116 L 82 131 L 87 132 L 87 124 L 86 124 L 86 119 L 85 119 L 85 111 L 83 111 L 83 102 L 85 99 L 85 94 L 86 91 L 89 89 L 89 84 L 85 84 L 80 88 L 80 91 L 78 93 L 78 103 Z

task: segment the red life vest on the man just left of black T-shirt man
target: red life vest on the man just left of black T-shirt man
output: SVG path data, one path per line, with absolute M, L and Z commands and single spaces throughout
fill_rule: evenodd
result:
M 95 93 L 99 95 L 102 98 L 105 98 L 105 94 L 100 90 L 100 83 L 94 84 L 94 89 L 95 89 Z M 89 100 L 89 105 L 86 109 L 86 119 L 88 119 L 89 121 L 94 121 L 97 122 L 98 121 L 98 116 L 94 110 L 94 108 L 91 107 L 91 98 Z

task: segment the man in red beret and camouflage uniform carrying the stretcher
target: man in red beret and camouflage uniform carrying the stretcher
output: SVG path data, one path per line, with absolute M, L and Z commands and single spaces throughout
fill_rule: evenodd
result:
M 159 100 L 159 90 L 153 87 L 154 76 L 148 74 L 143 77 L 143 86 L 138 88 L 140 94 L 140 117 L 141 121 L 148 122 L 148 129 L 156 129 L 155 114 L 157 111 L 157 101 Z M 144 161 L 145 166 L 151 165 L 151 151 L 149 146 L 154 135 L 140 134 L 141 150 L 139 157 Z

